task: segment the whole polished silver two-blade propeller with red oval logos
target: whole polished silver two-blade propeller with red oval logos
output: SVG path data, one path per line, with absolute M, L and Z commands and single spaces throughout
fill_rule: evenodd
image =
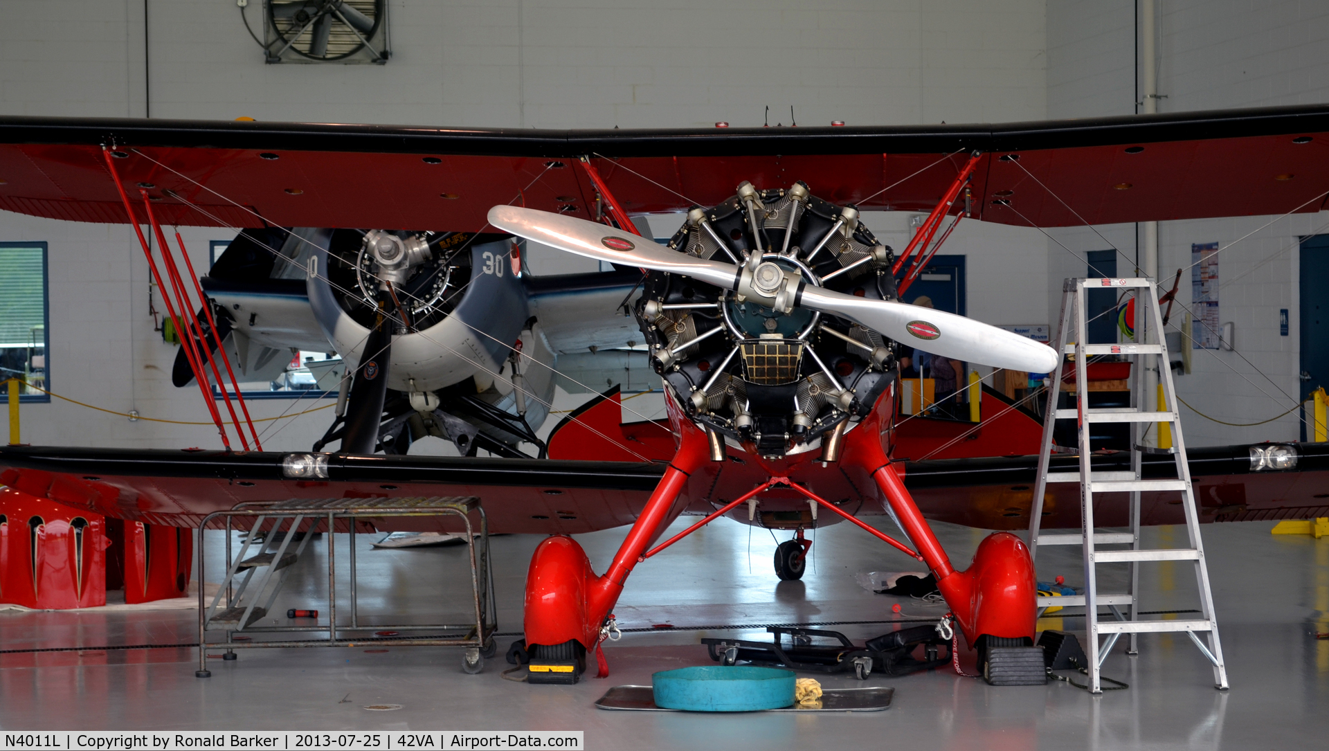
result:
M 494 206 L 489 210 L 489 223 L 577 255 L 738 290 L 780 311 L 803 306 L 837 315 L 942 358 L 1039 374 L 1057 367 L 1057 351 L 1033 339 L 962 315 L 811 286 L 775 263 L 763 262 L 760 254 L 743 266 L 692 258 L 606 225 L 520 206 Z

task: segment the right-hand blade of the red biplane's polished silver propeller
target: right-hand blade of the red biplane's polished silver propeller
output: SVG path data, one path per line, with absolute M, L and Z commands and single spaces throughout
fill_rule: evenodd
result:
M 1057 368 L 1057 351 L 1047 344 L 952 312 L 856 298 L 811 284 L 803 288 L 797 304 L 847 318 L 942 358 L 1034 374 Z

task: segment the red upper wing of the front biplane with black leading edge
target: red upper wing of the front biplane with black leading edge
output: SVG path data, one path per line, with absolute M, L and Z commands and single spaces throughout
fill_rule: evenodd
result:
M 0 118 L 0 209 L 125 222 L 102 158 L 175 225 L 477 231 L 490 206 L 593 217 L 595 160 L 631 213 L 796 179 L 836 203 L 928 210 L 965 152 L 977 218 L 1037 226 L 1318 211 L 1329 105 L 1003 125 L 504 130 Z M 1018 160 L 1009 156 L 1017 154 Z M 1063 203 L 1065 201 L 1065 203 Z M 961 210 L 957 202 L 954 210 Z

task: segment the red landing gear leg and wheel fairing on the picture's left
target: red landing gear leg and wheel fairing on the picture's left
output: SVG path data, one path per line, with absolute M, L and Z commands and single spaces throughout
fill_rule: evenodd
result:
M 549 537 L 536 548 L 526 574 L 524 623 L 526 650 L 533 658 L 573 662 L 579 661 L 585 653 L 594 651 L 609 611 L 623 591 L 627 574 L 647 546 L 683 510 L 679 494 L 687 477 L 710 460 L 710 444 L 706 433 L 691 423 L 675 421 L 675 427 L 682 429 L 683 436 L 678 453 L 619 545 L 605 576 L 595 576 L 586 553 L 571 537 Z M 603 658 L 601 674 L 609 674 Z

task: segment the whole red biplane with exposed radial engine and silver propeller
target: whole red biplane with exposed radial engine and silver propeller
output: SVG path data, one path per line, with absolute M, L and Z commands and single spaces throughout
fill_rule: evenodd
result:
M 12 488 L 178 526 L 243 501 L 480 496 L 492 530 L 552 536 L 530 564 L 525 611 L 528 647 L 548 658 L 598 646 L 630 572 L 674 542 L 657 545 L 680 514 L 704 516 L 682 534 L 722 514 L 793 529 L 787 566 L 801 565 L 803 529 L 849 521 L 925 562 L 970 643 L 1013 643 L 1034 635 L 1025 544 L 997 532 L 957 570 L 926 520 L 1026 526 L 1037 463 L 1026 452 L 1038 425 L 1009 411 L 979 425 L 986 445 L 1029 447 L 1022 456 L 898 456 L 897 344 L 1035 372 L 1051 371 L 1058 355 L 995 327 L 905 306 L 898 288 L 909 276 L 897 274 L 922 267 L 946 217 L 1059 227 L 1320 211 L 1329 194 L 1329 106 L 723 130 L 12 117 L 0 120 L 0 170 L 3 209 L 136 229 L 146 221 L 161 245 L 166 223 L 428 226 L 520 234 L 639 267 L 643 292 L 631 312 L 668 407 L 667 432 L 619 425 L 617 399 L 607 396 L 565 420 L 550 439 L 552 459 L 372 456 L 389 388 L 376 355 L 411 328 L 395 274 L 423 253 L 397 238 L 371 249 L 367 268 L 381 284 L 348 393 L 343 451 L 9 447 L 0 449 L 0 480 Z M 514 195 L 520 207 L 510 206 Z M 868 209 L 929 214 L 897 255 L 859 221 Z M 630 218 L 662 211 L 688 213 L 667 247 L 637 237 Z M 311 265 L 308 276 L 316 275 Z M 199 322 L 193 326 L 207 342 Z M 197 376 L 202 360 L 194 367 Z M 1009 405 L 998 407 L 989 413 Z M 1294 461 L 1273 468 L 1252 461 L 1248 445 L 1192 451 L 1203 518 L 1329 514 L 1317 497 L 1329 449 L 1297 444 L 1289 452 Z M 1094 467 L 1122 461 L 1107 453 Z M 1146 494 L 1144 524 L 1181 520 L 1164 496 Z M 1102 525 L 1127 524 L 1111 494 L 1095 500 Z M 1049 490 L 1043 526 L 1076 526 L 1075 501 L 1074 488 Z M 878 514 L 893 516 L 912 546 L 861 521 Z M 598 576 L 569 534 L 618 525 L 631 529 Z

